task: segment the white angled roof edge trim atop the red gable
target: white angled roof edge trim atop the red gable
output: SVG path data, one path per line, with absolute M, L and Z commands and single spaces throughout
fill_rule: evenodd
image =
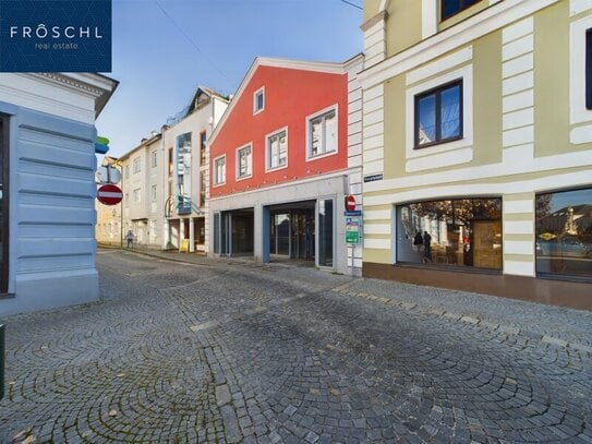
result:
M 237 94 L 230 100 L 230 105 L 228 108 L 226 108 L 225 113 L 222 115 L 222 118 L 212 132 L 212 135 L 209 136 L 209 143 L 213 143 L 216 136 L 218 135 L 219 129 L 222 128 L 226 123 L 226 120 L 228 119 L 228 116 L 232 112 L 234 109 L 234 104 L 237 104 L 240 98 L 242 97 L 244 89 L 251 82 L 251 79 L 257 71 L 259 67 L 273 67 L 273 68 L 282 68 L 288 70 L 300 70 L 300 71 L 315 71 L 315 72 L 323 72 L 327 74 L 343 74 L 346 73 L 346 70 L 343 68 L 343 63 L 339 62 L 316 62 L 316 61 L 303 61 L 303 60 L 290 60 L 290 59 L 271 59 L 266 57 L 256 57 L 253 63 L 251 64 L 251 68 L 246 72 L 246 75 L 242 80 L 239 88 L 237 89 Z

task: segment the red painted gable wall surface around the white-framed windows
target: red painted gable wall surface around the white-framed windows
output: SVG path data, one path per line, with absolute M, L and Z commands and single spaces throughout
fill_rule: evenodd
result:
M 265 109 L 253 115 L 253 94 L 262 86 L 265 86 Z M 210 168 L 216 157 L 227 156 L 226 183 L 212 184 L 212 197 L 347 168 L 347 74 L 262 65 L 237 100 L 210 146 Z M 338 152 L 306 161 L 306 117 L 334 105 L 338 116 Z M 282 128 L 288 131 L 288 168 L 266 172 L 266 135 Z M 235 152 L 249 143 L 253 146 L 253 176 L 237 181 Z

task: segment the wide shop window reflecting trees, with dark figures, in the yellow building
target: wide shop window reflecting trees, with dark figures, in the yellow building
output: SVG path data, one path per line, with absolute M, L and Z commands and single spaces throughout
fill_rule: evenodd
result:
M 502 269 L 502 200 L 458 199 L 397 207 L 397 262 Z

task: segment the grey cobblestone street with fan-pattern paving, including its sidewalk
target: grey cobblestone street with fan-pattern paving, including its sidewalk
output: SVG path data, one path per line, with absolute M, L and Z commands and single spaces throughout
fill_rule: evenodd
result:
M 592 443 L 590 312 L 183 257 L 3 320 L 0 442 Z

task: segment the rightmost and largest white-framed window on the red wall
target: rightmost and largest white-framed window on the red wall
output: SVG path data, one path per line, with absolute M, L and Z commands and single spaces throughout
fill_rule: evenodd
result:
M 337 154 L 337 105 L 306 118 L 306 159 Z

